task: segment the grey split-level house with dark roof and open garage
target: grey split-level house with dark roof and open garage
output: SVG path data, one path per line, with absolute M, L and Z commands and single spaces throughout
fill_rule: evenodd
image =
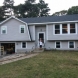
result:
M 78 50 L 78 15 L 16 18 L 0 23 L 0 46 L 7 54 L 39 48 Z

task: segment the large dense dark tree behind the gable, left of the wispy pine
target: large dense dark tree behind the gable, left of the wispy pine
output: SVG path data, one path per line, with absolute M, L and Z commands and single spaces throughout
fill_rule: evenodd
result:
M 24 4 L 20 4 L 14 8 L 17 17 L 37 17 L 39 14 L 35 0 L 26 0 Z

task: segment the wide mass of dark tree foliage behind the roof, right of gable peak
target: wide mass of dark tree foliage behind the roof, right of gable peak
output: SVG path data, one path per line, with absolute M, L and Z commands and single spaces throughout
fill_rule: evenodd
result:
M 24 4 L 15 6 L 14 13 L 17 17 L 41 17 L 49 15 L 49 8 L 43 0 L 35 3 L 35 0 L 27 0 Z

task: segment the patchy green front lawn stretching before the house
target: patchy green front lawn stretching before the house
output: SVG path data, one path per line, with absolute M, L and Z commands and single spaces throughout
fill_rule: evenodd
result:
M 0 65 L 0 78 L 78 78 L 78 52 L 47 51 Z

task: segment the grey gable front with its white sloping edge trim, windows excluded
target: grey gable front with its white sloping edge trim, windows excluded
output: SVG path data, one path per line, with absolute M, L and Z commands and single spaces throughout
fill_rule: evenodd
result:
M 20 25 L 24 25 L 25 26 L 25 30 L 26 30 L 26 33 L 25 34 L 20 34 L 19 30 L 20 30 Z M 30 34 L 29 34 L 29 29 L 28 29 L 28 25 L 24 22 L 22 22 L 21 20 L 17 19 L 17 18 L 10 18 L 10 19 L 7 19 L 5 21 L 3 21 L 1 24 L 0 24 L 0 30 L 1 30 L 1 26 L 7 26 L 7 34 L 4 36 L 4 35 L 1 35 L 1 40 L 6 40 L 10 41 L 10 40 L 28 40 L 30 41 L 31 38 L 30 38 Z M 9 36 L 11 37 L 9 39 Z M 14 37 L 12 37 L 14 36 Z

